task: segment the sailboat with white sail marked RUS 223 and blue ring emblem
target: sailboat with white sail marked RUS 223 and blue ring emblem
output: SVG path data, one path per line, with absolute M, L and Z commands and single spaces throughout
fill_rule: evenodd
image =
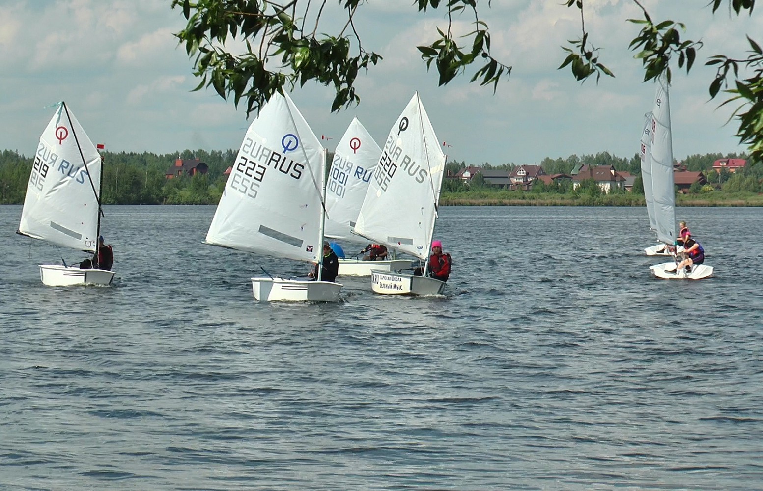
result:
M 288 95 L 276 93 L 244 136 L 205 243 L 319 263 L 326 150 Z M 266 273 L 267 274 L 267 273 Z M 256 300 L 336 302 L 330 281 L 251 278 Z

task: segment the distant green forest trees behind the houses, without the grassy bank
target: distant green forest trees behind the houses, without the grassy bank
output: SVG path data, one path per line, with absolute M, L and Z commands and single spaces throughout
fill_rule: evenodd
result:
M 103 204 L 217 204 L 225 188 L 227 177 L 225 169 L 233 165 L 237 150 L 183 150 L 182 152 L 156 154 L 151 152 L 101 152 L 104 156 Z M 331 154 L 329 154 L 331 161 Z M 175 159 L 200 159 L 208 165 L 206 174 L 197 174 L 193 178 L 183 176 L 167 179 L 167 169 L 174 165 Z M 707 180 L 713 183 L 713 189 L 723 191 L 763 192 L 763 164 L 748 165 L 743 172 L 736 175 L 722 172 L 717 175 L 712 170 L 716 159 L 745 158 L 743 154 L 709 153 L 693 155 L 684 159 L 681 164 L 688 171 L 705 172 Z M 572 155 L 566 159 L 543 159 L 539 162 L 546 174 L 569 174 L 578 164 L 613 165 L 618 171 L 627 171 L 639 176 L 641 162 L 634 154 L 629 159 L 600 152 L 595 155 Z M 18 152 L 3 150 L 0 152 L 0 204 L 21 204 L 27 190 L 27 181 L 31 172 L 31 157 L 19 155 Z M 466 162 L 451 161 L 446 164 L 446 173 L 455 175 L 462 168 L 474 165 L 486 169 L 510 170 L 517 165 L 467 164 Z M 491 185 L 484 180 L 475 178 L 472 183 L 464 185 L 456 179 L 446 179 L 443 192 L 490 190 Z M 633 186 L 634 193 L 643 193 L 640 177 L 636 178 Z M 553 191 L 542 189 L 541 191 Z M 559 192 L 569 190 L 559 189 Z M 695 190 L 698 191 L 698 190 Z M 530 192 L 530 191 L 525 191 Z

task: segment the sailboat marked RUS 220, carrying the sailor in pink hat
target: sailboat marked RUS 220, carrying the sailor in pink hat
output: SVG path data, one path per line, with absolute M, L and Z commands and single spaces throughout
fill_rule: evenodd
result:
M 356 233 L 427 262 L 445 159 L 416 92 L 389 132 Z M 445 283 L 402 271 L 373 270 L 371 287 L 378 294 L 430 295 L 443 293 Z

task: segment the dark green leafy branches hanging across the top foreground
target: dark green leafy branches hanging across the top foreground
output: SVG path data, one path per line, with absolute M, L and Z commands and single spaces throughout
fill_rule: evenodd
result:
M 581 37 L 562 47 L 565 59 L 559 69 L 568 67 L 575 79 L 585 81 L 594 77 L 598 82 L 601 75 L 615 74 L 601 59 L 600 47 L 594 45 L 594 33 L 586 30 L 585 7 L 589 2 L 565 0 L 559 4 L 559 8 L 577 8 L 581 24 Z M 654 20 L 642 2 L 631 2 L 642 11 L 642 18 L 627 19 L 640 27 L 629 48 L 636 53 L 634 58 L 641 60 L 644 80 L 664 75 L 670 83 L 671 66 L 690 72 L 704 42 L 682 38 L 687 30 L 684 23 Z M 320 5 L 313 5 L 310 0 L 172 0 L 172 8 L 180 8 L 187 22 L 175 36 L 194 59 L 194 75 L 201 80 L 196 90 L 214 88 L 222 98 L 232 95 L 237 105 L 243 99 L 247 113 L 259 109 L 275 92 L 283 93 L 285 86 L 294 88 L 307 81 L 334 89 L 331 111 L 359 103 L 355 87 L 358 73 L 381 62 L 378 53 L 365 49 L 354 24 L 356 12 L 366 3 L 339 0 L 346 23 L 330 34 L 324 34 L 319 27 L 325 2 L 317 3 Z M 704 6 L 715 14 L 724 3 L 728 7 L 722 10 L 724 14 L 727 10 L 728 14 L 752 15 L 755 8 L 755 0 L 710 0 Z M 478 4 L 475 0 L 416 0 L 413 6 L 418 13 L 427 9 L 445 12 L 446 20 L 436 27 L 434 39 L 417 47 L 427 69 L 435 67 L 439 85 L 446 85 L 467 69 L 473 69 L 474 63 L 481 66 L 473 69 L 471 81 L 490 85 L 494 91 L 501 78 L 510 77 L 512 67 L 491 55 L 491 32 L 480 17 L 480 12 L 491 8 L 490 1 Z M 472 24 L 472 31 L 465 36 L 459 36 L 453 29 L 454 19 L 461 15 L 467 15 Z M 231 53 L 229 47 L 238 44 L 232 40 L 243 40 L 246 47 L 243 53 Z M 760 160 L 763 50 L 749 35 L 746 40 L 749 50 L 745 57 L 715 54 L 707 58 L 705 65 L 716 68 L 708 91 L 710 98 L 723 91 L 728 97 L 723 104 L 738 104 L 734 112 L 739 124 L 736 136 L 749 147 L 750 156 Z

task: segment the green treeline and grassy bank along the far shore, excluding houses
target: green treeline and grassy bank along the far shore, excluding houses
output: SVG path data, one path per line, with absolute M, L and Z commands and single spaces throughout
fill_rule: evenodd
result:
M 183 150 L 167 154 L 152 152 L 101 152 L 105 166 L 103 175 L 104 204 L 217 204 L 225 188 L 225 170 L 233 165 L 237 151 Z M 330 154 L 331 156 L 331 154 Z M 681 164 L 687 171 L 703 172 L 707 184 L 693 185 L 687 194 L 678 194 L 678 204 L 684 206 L 763 206 L 763 163 L 753 162 L 736 173 L 726 169 L 718 174 L 713 170 L 717 159 L 745 158 L 744 155 L 709 153 L 688 156 Z M 206 174 L 193 177 L 166 178 L 175 159 L 199 159 L 208 165 Z M 331 159 L 330 159 L 331 161 Z M 0 152 L 0 204 L 21 204 L 33 159 L 11 150 Z M 481 174 L 468 183 L 457 178 L 443 181 L 440 204 L 443 205 L 580 205 L 580 206 L 642 206 L 643 185 L 638 155 L 629 159 L 600 152 L 595 155 L 566 159 L 543 159 L 539 165 L 548 175 L 570 174 L 577 165 L 613 165 L 617 171 L 636 175 L 632 191 L 616 190 L 604 193 L 594 181 L 581 183 L 573 189 L 571 181 L 546 185 L 536 181 L 530 191 L 508 191 L 489 185 Z M 456 175 L 465 162 L 447 162 L 446 175 Z M 478 165 L 485 169 L 510 170 L 517 165 Z

